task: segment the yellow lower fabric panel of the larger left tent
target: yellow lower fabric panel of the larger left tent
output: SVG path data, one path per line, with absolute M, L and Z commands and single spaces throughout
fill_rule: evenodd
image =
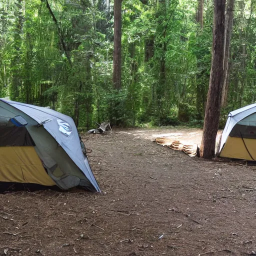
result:
M 33 146 L 0 146 L 0 181 L 55 185 Z

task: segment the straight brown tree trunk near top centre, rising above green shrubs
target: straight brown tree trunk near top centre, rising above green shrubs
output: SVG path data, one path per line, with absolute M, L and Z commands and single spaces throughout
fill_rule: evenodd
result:
M 113 87 L 121 88 L 121 0 L 114 0 Z

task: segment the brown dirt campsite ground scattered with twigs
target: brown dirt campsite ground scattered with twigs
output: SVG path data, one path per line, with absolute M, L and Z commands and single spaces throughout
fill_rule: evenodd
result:
M 181 128 L 84 134 L 101 194 L 0 194 L 0 255 L 255 255 L 255 168 L 152 142 L 162 133 L 201 136 Z

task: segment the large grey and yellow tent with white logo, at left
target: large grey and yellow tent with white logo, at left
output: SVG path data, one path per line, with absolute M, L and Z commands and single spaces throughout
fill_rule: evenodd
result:
M 0 182 L 100 191 L 71 117 L 0 99 Z

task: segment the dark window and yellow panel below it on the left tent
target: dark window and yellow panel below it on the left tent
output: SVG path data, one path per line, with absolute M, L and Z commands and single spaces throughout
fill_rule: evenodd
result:
M 24 126 L 0 126 L 0 181 L 55 185 Z

